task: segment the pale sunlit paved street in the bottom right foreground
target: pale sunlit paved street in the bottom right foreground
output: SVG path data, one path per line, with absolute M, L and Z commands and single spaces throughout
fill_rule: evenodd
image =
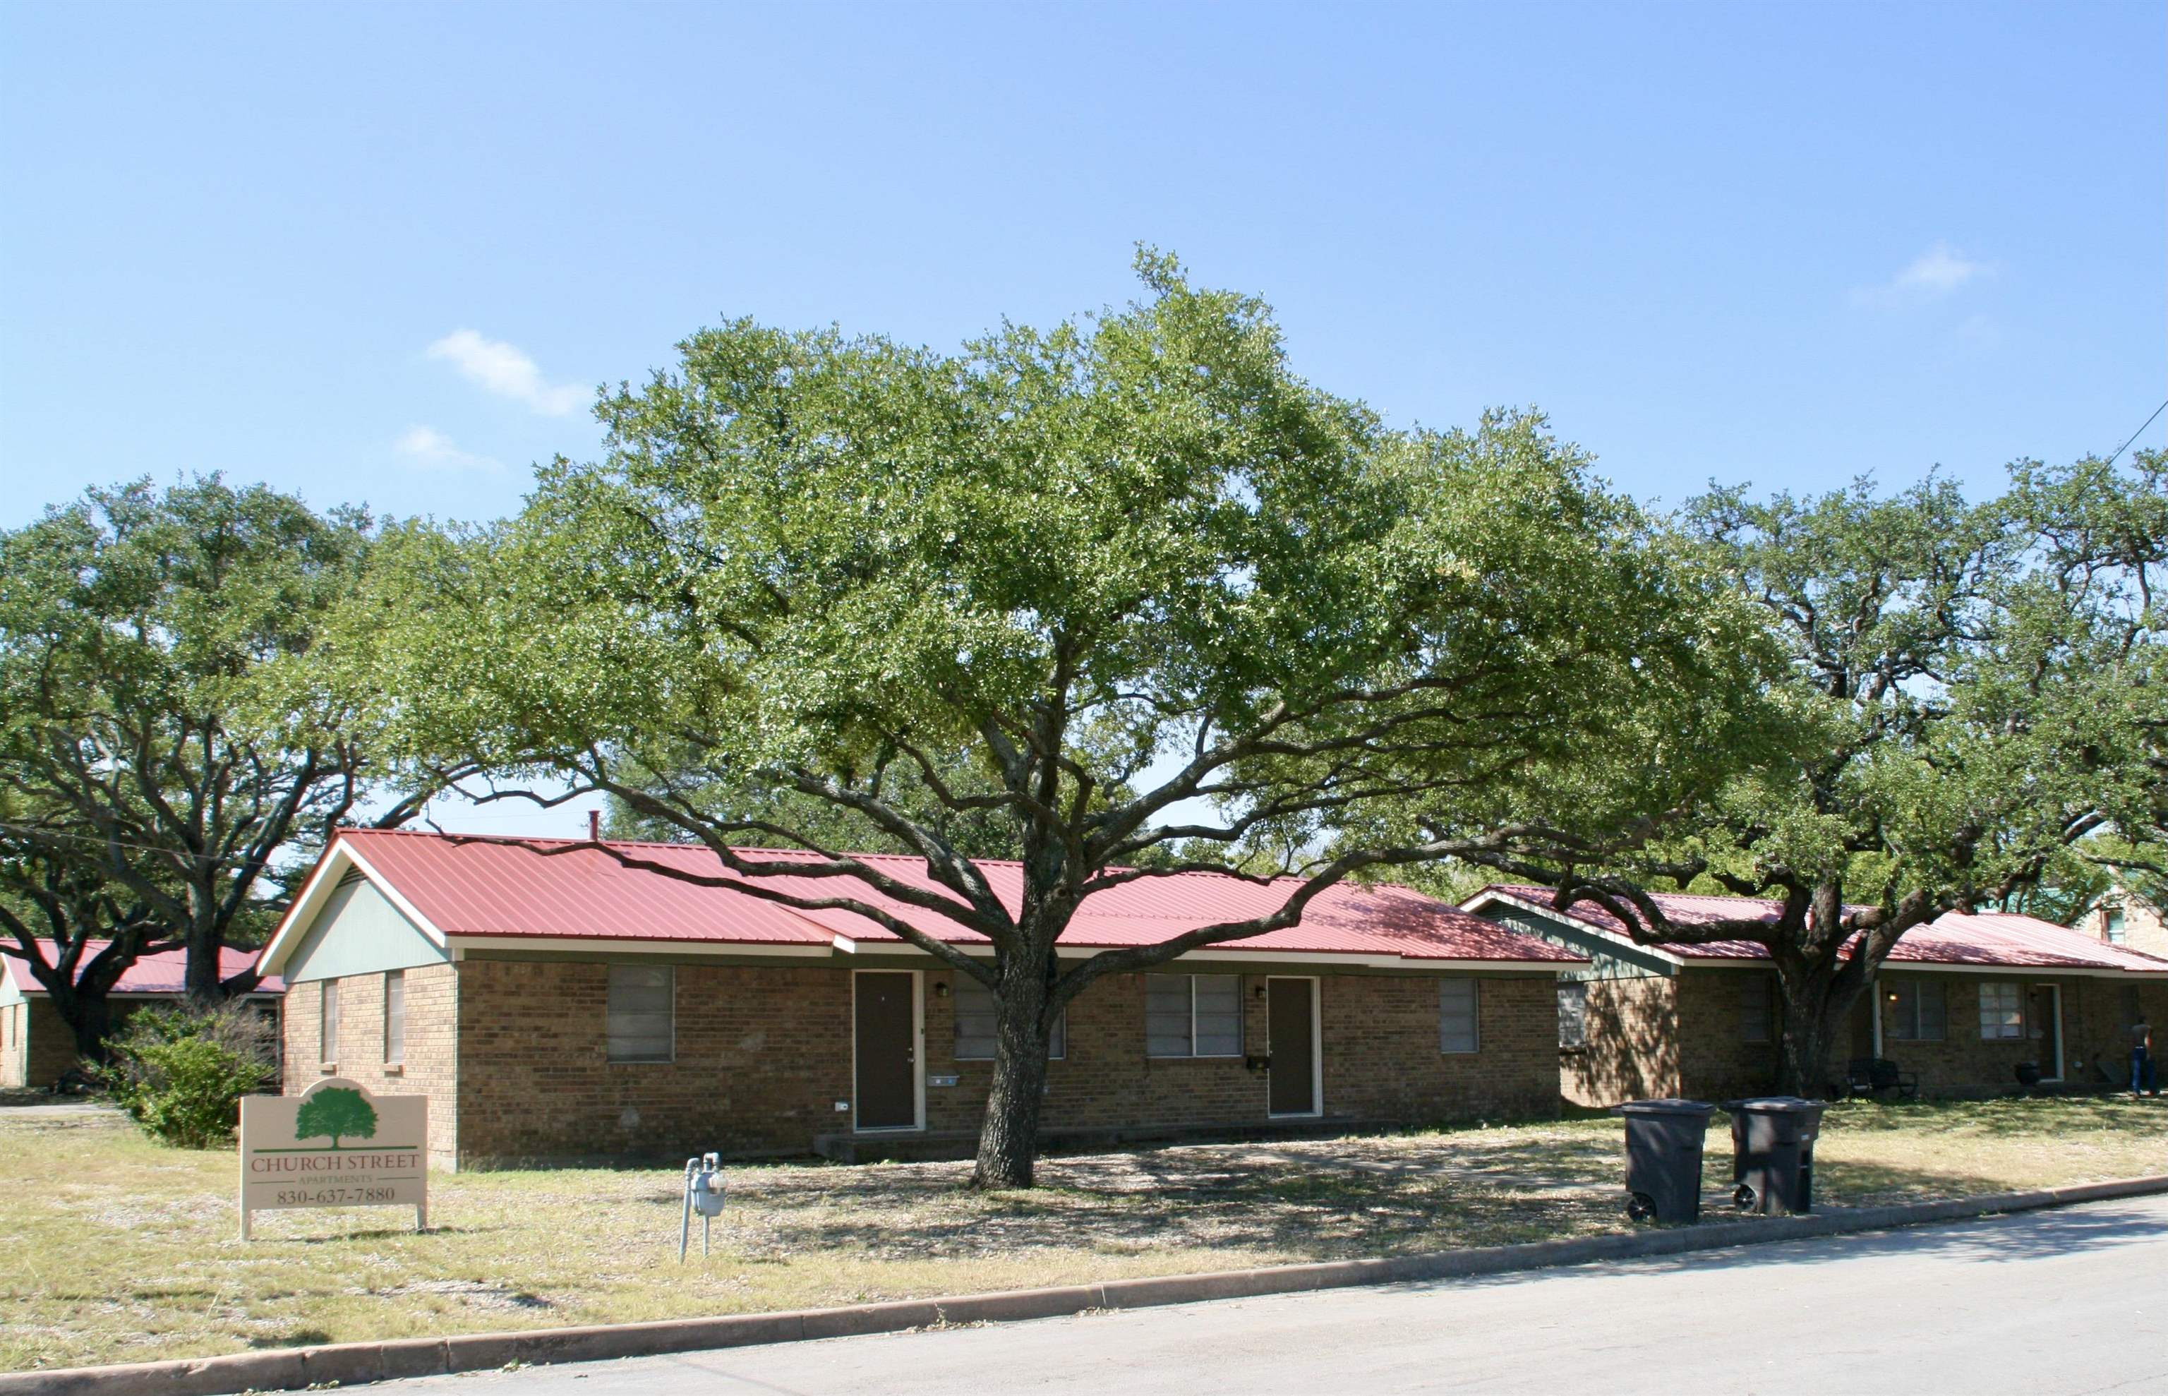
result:
M 1884 1236 L 386 1383 L 700 1392 L 2168 1392 L 2168 1199 Z

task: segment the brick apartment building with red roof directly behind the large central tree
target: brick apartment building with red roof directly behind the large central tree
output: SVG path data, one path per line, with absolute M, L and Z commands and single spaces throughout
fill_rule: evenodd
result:
M 288 984 L 286 1090 L 336 1073 L 425 1093 L 431 1162 L 453 1168 L 971 1149 L 993 1058 L 971 975 L 854 913 L 627 858 L 722 871 L 679 843 L 340 830 L 264 947 Z M 869 861 L 934 887 L 917 858 Z M 1021 869 L 980 867 L 1015 906 Z M 1091 895 L 1060 954 L 1262 915 L 1292 887 L 1134 880 Z M 991 956 L 945 917 L 885 910 Z M 1043 1127 L 1554 1114 L 1561 969 L 1587 960 L 1405 887 L 1333 887 L 1296 928 L 1091 984 L 1056 1032 Z

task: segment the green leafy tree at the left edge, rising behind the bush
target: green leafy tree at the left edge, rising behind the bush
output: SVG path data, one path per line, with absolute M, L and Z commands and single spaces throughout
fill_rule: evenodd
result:
M 0 949 L 87 1054 L 143 949 L 186 947 L 195 1001 L 251 988 L 219 949 L 269 930 L 295 850 L 369 791 L 369 709 L 325 685 L 317 639 L 371 535 L 358 509 L 215 475 L 91 490 L 0 533 Z

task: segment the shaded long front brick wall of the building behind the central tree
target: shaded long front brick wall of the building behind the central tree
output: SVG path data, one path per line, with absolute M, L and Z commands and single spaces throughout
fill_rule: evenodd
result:
M 802 1153 L 850 1127 L 850 969 L 676 967 L 676 1060 L 607 1060 L 603 962 L 460 965 L 460 1160 Z M 954 1058 L 950 971 L 921 975 L 928 1129 L 976 1129 L 991 1062 Z M 1242 975 L 1244 1054 L 1262 1056 L 1264 980 Z M 1557 1110 L 1550 978 L 1489 978 L 1483 1049 L 1437 1051 L 1437 980 L 1327 975 L 1320 986 L 1325 1110 L 1424 1123 Z M 1047 1127 L 1266 1119 L 1266 1073 L 1242 1058 L 1147 1058 L 1145 978 L 1114 975 L 1069 1008 L 1049 1064 Z

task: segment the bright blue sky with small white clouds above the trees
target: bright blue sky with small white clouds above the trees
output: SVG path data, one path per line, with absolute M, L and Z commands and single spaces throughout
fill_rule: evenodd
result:
M 752 314 L 1262 293 L 1639 496 L 2105 453 L 2168 397 L 2159 4 L 0 9 L 0 525 L 228 470 L 488 518 Z M 2168 418 L 2142 444 L 2168 442 Z M 562 817 L 559 817 L 562 819 Z

